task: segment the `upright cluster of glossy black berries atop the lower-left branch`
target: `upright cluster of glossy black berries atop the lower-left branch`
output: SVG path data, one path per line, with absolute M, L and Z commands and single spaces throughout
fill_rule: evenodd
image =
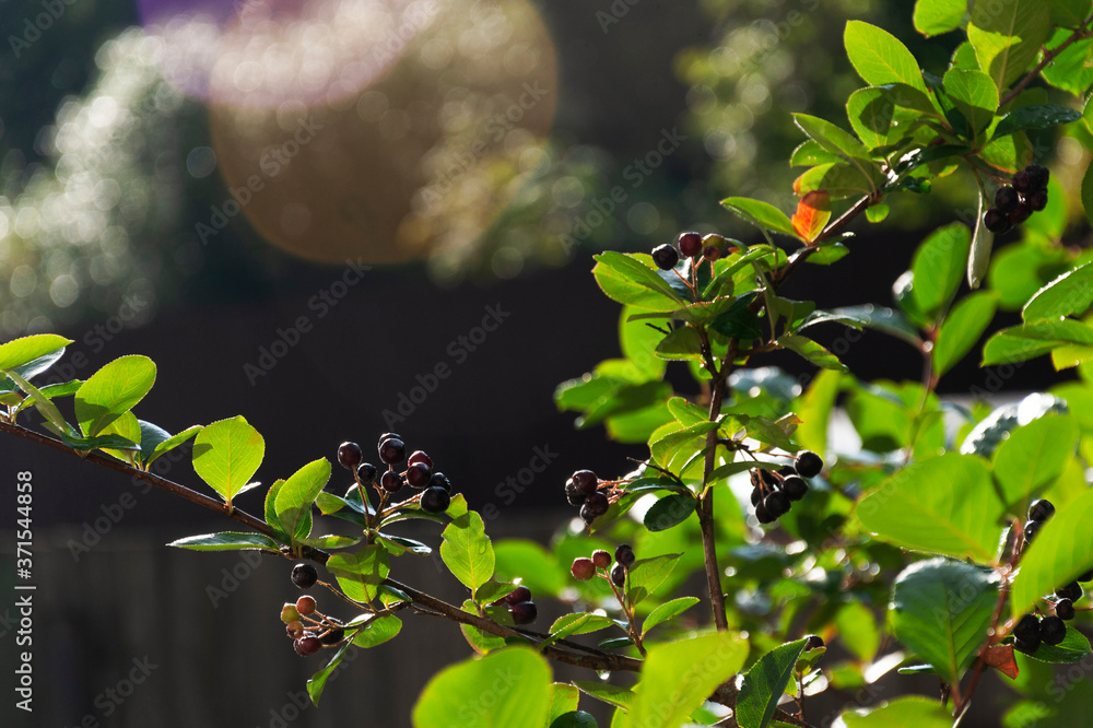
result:
M 443 472 L 433 469 L 433 459 L 425 453 L 415 450 L 407 457 L 407 446 L 402 435 L 385 432 L 377 445 L 379 460 L 387 466 L 381 473 L 371 462 L 363 462 L 361 446 L 342 443 L 338 448 L 338 462 L 356 474 L 362 485 L 377 484 L 385 494 L 398 493 L 404 485 L 422 490 L 421 508 L 427 513 L 444 513 L 451 504 L 451 481 Z M 406 470 L 399 472 L 396 466 L 406 462 Z

